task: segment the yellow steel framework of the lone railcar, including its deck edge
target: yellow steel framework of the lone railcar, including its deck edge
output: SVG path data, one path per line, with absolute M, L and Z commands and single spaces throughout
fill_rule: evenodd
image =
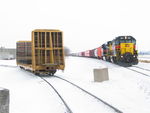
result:
M 35 47 L 35 41 L 34 41 L 34 39 L 35 39 L 35 37 L 34 37 L 34 32 L 37 32 L 38 34 L 38 39 L 37 39 L 37 41 L 38 41 L 38 46 L 37 47 Z M 39 43 L 39 41 L 40 41 L 40 38 L 39 38 L 39 33 L 42 33 L 42 32 L 45 32 L 45 47 L 40 47 L 40 43 Z M 46 32 L 49 32 L 50 34 L 49 34 L 49 44 L 50 44 L 50 46 L 49 47 L 47 47 L 47 40 L 46 40 L 46 37 L 47 37 L 47 33 Z M 53 47 L 53 43 L 56 43 L 55 42 L 55 40 L 53 39 L 52 40 L 52 32 L 61 32 L 62 33 L 62 47 L 58 47 L 58 44 L 59 44 L 59 42 L 57 42 L 57 44 L 56 44 L 56 46 L 54 46 Z M 45 69 L 45 67 L 46 66 L 49 66 L 49 67 L 52 67 L 53 69 L 61 69 L 61 70 L 64 70 L 64 67 L 65 67 L 65 62 L 64 62 L 64 47 L 63 47 L 63 32 L 62 31 L 60 31 L 60 30 L 51 30 L 51 29 L 36 29 L 36 30 L 34 30 L 34 31 L 32 31 L 32 33 L 31 33 L 31 36 L 32 36 L 32 41 L 18 41 L 18 42 L 31 42 L 32 43 L 32 64 L 31 65 L 28 65 L 28 64 L 20 64 L 20 63 L 18 63 L 17 62 L 17 65 L 19 65 L 19 66 L 22 66 L 22 67 L 24 67 L 24 68 L 26 68 L 26 69 L 30 69 L 31 71 L 33 71 L 33 72 L 36 72 L 36 71 L 38 71 L 38 70 L 44 70 Z M 56 40 L 58 41 L 59 40 L 59 37 L 58 37 L 58 34 L 56 35 L 57 37 L 55 37 L 55 38 L 57 38 Z M 41 38 L 41 40 L 42 40 L 42 38 Z M 41 43 L 42 43 L 42 41 L 41 41 Z M 41 51 L 40 50 L 45 50 L 45 65 L 37 65 L 37 56 L 36 56 L 36 54 L 35 54 L 35 50 L 38 50 L 38 57 L 39 57 L 39 59 L 38 59 L 38 61 L 40 61 L 41 60 L 41 58 L 43 59 L 43 56 L 42 56 L 42 53 L 41 53 Z M 50 62 L 47 62 L 48 60 L 47 60 L 47 58 L 48 58 L 48 53 L 47 53 L 47 50 L 49 50 L 49 54 L 50 54 L 50 57 L 49 57 L 49 61 Z M 62 50 L 62 56 L 60 56 L 60 50 Z M 55 52 L 57 52 L 57 56 L 55 56 L 56 55 L 56 53 Z M 57 57 L 57 59 L 56 59 L 56 57 Z M 57 61 L 58 60 L 58 61 Z M 62 64 L 60 64 L 60 65 L 55 65 L 55 61 L 57 61 L 57 62 L 59 62 L 61 60 L 61 62 L 62 62 Z M 48 64 L 46 64 L 46 63 L 48 63 Z M 59 62 L 60 63 L 60 62 Z

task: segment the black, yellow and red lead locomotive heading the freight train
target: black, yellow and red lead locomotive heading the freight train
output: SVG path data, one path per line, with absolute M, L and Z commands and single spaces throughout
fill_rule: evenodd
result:
M 134 65 L 138 63 L 136 40 L 132 36 L 119 36 L 113 40 L 113 53 L 118 62 Z

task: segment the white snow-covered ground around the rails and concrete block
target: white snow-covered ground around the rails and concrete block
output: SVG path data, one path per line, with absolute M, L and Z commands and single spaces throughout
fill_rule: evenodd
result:
M 62 102 L 40 78 L 13 67 L 16 65 L 15 60 L 0 60 L 0 65 L 12 65 L 12 67 L 0 66 L 0 87 L 10 90 L 10 113 L 64 113 L 65 108 Z M 138 66 L 150 69 L 150 63 L 139 63 Z M 93 69 L 103 67 L 108 67 L 109 81 L 95 83 Z M 56 75 L 78 84 L 124 113 L 150 113 L 150 77 L 105 61 L 79 57 L 66 58 L 65 71 L 58 71 Z M 63 93 L 73 92 L 71 89 L 67 90 L 68 86 L 62 82 L 58 81 L 56 87 L 58 85 L 62 86 Z M 74 93 L 76 93 L 75 90 Z M 80 106 L 77 105 L 80 99 L 73 98 L 69 94 L 67 96 L 72 99 L 69 104 L 78 108 L 78 112 L 74 113 L 100 112 L 89 111 L 86 109 L 87 105 L 82 106 L 80 110 Z M 73 100 L 77 103 L 71 103 Z M 89 102 L 91 106 L 97 106 L 91 100 Z M 103 111 L 103 113 L 106 112 Z

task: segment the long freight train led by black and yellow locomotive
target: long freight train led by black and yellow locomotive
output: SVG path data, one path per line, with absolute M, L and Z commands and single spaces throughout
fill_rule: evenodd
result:
M 72 55 L 102 59 L 122 66 L 138 64 L 136 39 L 132 36 L 118 36 L 98 48 Z

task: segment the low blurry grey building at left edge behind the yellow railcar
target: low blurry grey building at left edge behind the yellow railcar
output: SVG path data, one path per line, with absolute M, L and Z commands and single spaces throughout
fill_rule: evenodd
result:
M 0 59 L 15 59 L 16 49 L 0 47 Z

